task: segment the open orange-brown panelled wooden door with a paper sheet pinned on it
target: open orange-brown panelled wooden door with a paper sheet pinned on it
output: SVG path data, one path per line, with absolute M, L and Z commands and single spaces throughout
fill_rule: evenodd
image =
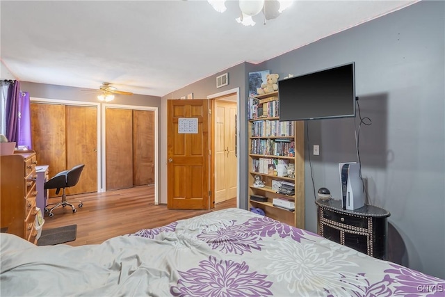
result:
M 209 209 L 209 100 L 167 105 L 168 209 Z

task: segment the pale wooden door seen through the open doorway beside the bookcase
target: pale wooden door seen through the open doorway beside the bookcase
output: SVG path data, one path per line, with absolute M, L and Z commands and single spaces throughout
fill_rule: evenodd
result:
M 215 101 L 215 202 L 236 198 L 236 102 Z

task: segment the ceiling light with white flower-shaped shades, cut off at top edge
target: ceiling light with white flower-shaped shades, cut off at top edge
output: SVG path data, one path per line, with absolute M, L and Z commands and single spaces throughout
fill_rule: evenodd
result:
M 225 1 L 226 0 L 207 0 L 218 13 L 224 13 L 227 10 Z M 252 17 L 262 11 L 264 14 L 264 24 L 266 24 L 266 19 L 275 19 L 275 17 L 278 17 L 286 8 L 289 8 L 292 3 L 293 0 L 238 0 L 241 17 L 236 18 L 236 22 L 244 26 L 254 26 L 255 22 Z

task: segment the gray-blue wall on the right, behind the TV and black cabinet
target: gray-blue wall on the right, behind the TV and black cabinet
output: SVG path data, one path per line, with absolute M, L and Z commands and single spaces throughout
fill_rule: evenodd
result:
M 391 212 L 389 260 L 445 278 L 444 1 L 421 1 L 273 58 L 280 74 L 355 61 L 359 153 L 369 203 Z M 357 122 L 358 123 L 358 122 Z M 315 190 L 339 198 L 338 163 L 357 161 L 354 119 L 306 122 Z M 356 127 L 358 127 L 356 125 Z M 320 156 L 312 156 L 320 145 Z M 306 228 L 316 232 L 306 149 Z

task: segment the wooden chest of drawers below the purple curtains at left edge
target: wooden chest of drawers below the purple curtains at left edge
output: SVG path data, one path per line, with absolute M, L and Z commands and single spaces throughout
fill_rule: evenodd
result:
M 37 243 L 35 230 L 35 152 L 0 156 L 1 228 L 10 234 Z

